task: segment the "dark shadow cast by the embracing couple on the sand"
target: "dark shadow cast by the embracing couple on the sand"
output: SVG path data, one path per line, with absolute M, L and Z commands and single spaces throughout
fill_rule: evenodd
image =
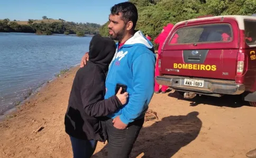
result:
M 202 127 L 198 112 L 168 116 L 143 127 L 130 157 L 169 158 L 195 140 Z M 142 156 L 143 155 L 143 156 Z M 107 145 L 93 157 L 106 157 Z

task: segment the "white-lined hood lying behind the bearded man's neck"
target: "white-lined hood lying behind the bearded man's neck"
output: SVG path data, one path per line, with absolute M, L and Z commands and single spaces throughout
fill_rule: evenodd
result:
M 129 40 L 127 40 L 123 47 L 130 47 L 134 45 L 145 46 L 149 49 L 153 48 L 153 44 L 142 34 L 141 31 L 137 31 Z

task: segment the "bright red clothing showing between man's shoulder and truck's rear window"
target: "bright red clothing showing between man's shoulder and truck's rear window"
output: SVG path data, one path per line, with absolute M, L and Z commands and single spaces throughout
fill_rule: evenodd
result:
M 163 42 L 166 40 L 168 34 L 170 33 L 171 29 L 173 28 L 173 24 L 168 24 L 167 26 L 164 26 L 164 31 L 158 35 L 158 37 L 154 40 L 154 43 L 159 44 L 158 47 L 158 54 L 161 53 L 161 48 L 163 45 Z

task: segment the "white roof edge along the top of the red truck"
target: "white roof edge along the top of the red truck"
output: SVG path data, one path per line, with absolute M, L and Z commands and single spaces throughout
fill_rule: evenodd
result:
M 194 22 L 200 22 L 200 21 L 208 21 L 215 18 L 234 18 L 239 26 L 239 29 L 244 30 L 244 19 L 251 19 L 256 21 L 256 16 L 243 16 L 243 15 L 222 15 L 222 16 L 211 16 L 211 17 L 203 17 L 203 18 L 194 18 L 189 19 L 187 21 L 182 21 L 177 23 L 176 25 L 185 24 L 185 23 L 194 23 Z

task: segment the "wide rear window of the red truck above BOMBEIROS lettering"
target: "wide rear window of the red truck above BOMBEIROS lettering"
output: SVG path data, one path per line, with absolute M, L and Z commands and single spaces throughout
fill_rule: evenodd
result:
M 171 37 L 169 44 L 219 43 L 230 42 L 233 32 L 230 24 L 205 24 L 179 28 Z M 173 43 L 178 36 L 177 42 Z

